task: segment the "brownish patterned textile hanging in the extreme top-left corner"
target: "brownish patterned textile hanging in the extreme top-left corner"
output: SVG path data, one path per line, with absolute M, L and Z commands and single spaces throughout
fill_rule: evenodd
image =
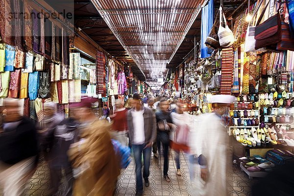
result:
M 10 13 L 13 13 L 13 3 L 12 0 L 4 0 L 5 2 L 5 15 L 4 15 L 4 19 L 5 20 L 5 25 L 4 25 L 4 32 L 3 34 L 1 33 L 2 37 L 3 37 L 3 41 L 4 43 L 8 44 L 8 45 L 14 45 L 14 39 L 13 39 L 13 35 L 14 35 L 14 31 L 13 31 L 13 26 L 11 24 L 11 20 L 9 19 Z

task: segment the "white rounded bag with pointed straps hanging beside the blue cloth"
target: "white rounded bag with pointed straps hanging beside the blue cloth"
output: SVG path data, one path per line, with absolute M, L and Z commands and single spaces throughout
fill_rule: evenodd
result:
M 223 22 L 222 22 L 222 19 L 223 19 Z M 223 25 L 225 27 L 223 27 Z M 220 6 L 220 27 L 219 27 L 218 36 L 220 39 L 221 47 L 227 48 L 234 44 L 234 40 L 235 40 L 234 34 L 226 22 L 221 6 Z

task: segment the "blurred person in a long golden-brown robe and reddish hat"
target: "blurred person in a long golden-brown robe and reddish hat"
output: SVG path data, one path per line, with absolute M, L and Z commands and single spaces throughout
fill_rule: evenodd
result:
M 91 110 L 94 98 L 82 98 L 71 110 L 82 123 L 80 140 L 69 151 L 74 174 L 73 196 L 112 196 L 120 174 L 120 161 L 110 139 L 110 124 Z

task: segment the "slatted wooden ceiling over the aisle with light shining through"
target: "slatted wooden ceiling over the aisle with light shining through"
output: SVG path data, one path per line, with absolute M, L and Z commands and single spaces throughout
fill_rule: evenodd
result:
M 92 0 L 148 83 L 165 78 L 166 64 L 199 11 L 200 0 Z

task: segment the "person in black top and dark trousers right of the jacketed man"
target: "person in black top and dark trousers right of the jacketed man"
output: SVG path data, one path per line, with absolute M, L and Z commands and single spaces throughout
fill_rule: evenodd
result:
M 157 147 L 160 154 L 160 143 L 163 147 L 163 176 L 167 182 L 170 182 L 171 179 L 168 175 L 169 171 L 169 147 L 170 147 L 170 138 L 169 133 L 172 130 L 172 116 L 169 112 L 170 102 L 167 99 L 161 99 L 159 103 L 159 110 L 155 113 L 156 123 L 157 123 Z

